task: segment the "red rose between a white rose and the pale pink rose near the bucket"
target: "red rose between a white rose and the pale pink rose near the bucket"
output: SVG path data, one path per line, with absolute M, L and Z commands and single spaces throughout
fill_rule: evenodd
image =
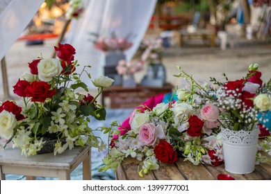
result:
M 204 122 L 199 119 L 196 115 L 192 115 L 188 119 L 189 127 L 186 132 L 190 136 L 201 136 L 202 135 L 202 127 L 204 126 Z

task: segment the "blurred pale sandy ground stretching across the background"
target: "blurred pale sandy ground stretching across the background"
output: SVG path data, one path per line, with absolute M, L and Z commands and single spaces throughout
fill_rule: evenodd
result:
M 56 44 L 56 39 L 47 39 L 43 45 L 36 46 L 26 46 L 25 42 L 20 41 L 15 42 L 10 48 L 6 54 L 6 64 L 11 97 L 15 97 L 13 85 L 28 69 L 28 62 L 37 58 L 40 53 L 43 58 L 50 58 L 54 44 Z M 222 78 L 222 73 L 227 73 L 231 79 L 238 79 L 245 76 L 247 67 L 252 62 L 260 64 L 262 79 L 265 82 L 268 81 L 271 77 L 271 43 L 241 40 L 236 48 L 228 46 L 226 51 L 222 51 L 219 45 L 210 48 L 208 45 L 195 42 L 194 45 L 186 44 L 183 48 L 165 48 L 163 57 L 163 64 L 167 69 L 167 82 L 172 85 L 179 84 L 179 79 L 172 76 L 178 73 L 176 66 L 182 67 L 196 80 L 209 80 L 210 77 Z M 136 81 L 140 82 L 144 75 L 145 70 L 136 73 Z M 0 96 L 3 96 L 2 82 Z M 3 97 L 0 99 L 3 100 Z

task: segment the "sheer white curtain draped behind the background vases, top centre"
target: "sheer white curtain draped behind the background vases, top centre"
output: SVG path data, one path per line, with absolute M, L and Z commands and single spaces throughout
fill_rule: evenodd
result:
M 90 64 L 90 75 L 97 78 L 103 74 L 104 53 L 94 48 L 90 33 L 120 37 L 131 35 L 133 46 L 125 51 L 126 60 L 131 60 L 145 35 L 156 0 L 89 0 L 79 20 L 73 20 L 67 33 L 67 43 L 76 49 L 75 58 L 83 65 Z M 81 71 L 81 68 L 76 71 Z M 83 81 L 85 78 L 82 78 Z M 92 88 L 91 82 L 85 82 Z

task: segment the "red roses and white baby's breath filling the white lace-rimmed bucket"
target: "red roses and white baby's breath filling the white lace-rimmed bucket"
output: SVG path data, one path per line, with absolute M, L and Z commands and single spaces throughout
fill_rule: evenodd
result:
M 220 108 L 222 127 L 230 130 L 252 130 L 258 122 L 259 112 L 265 114 L 265 111 L 271 109 L 270 94 L 260 94 L 268 88 L 262 88 L 263 80 L 258 64 L 249 66 L 245 78 L 231 81 L 225 76 L 225 79 L 227 82 L 218 82 L 211 78 L 211 81 L 218 85 L 218 89 L 208 91 L 211 97 L 208 100 L 213 100 Z M 265 120 L 263 119 L 263 123 L 267 122 Z

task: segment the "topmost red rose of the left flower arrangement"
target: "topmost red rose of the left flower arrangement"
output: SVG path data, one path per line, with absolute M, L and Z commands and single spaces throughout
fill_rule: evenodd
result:
M 72 64 L 75 55 L 75 49 L 70 44 L 58 44 L 58 47 L 55 46 L 56 55 L 60 60 L 67 62 L 67 64 Z

